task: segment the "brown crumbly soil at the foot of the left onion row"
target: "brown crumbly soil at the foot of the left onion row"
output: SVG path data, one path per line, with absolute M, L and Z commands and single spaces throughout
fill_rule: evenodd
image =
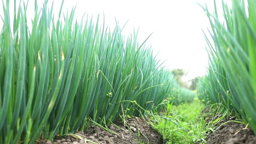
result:
M 152 129 L 143 119 L 134 117 L 127 120 L 127 126 L 124 127 L 124 122 L 118 122 L 116 125 L 111 124 L 109 128 L 116 132 L 113 134 L 98 126 L 91 126 L 86 132 L 77 132 L 83 139 L 75 136 L 65 136 L 56 138 L 54 141 L 42 140 L 35 144 L 91 144 L 93 141 L 97 144 L 162 144 L 161 135 Z M 138 130 L 140 137 L 138 136 Z M 89 141 L 88 141 L 89 140 Z

